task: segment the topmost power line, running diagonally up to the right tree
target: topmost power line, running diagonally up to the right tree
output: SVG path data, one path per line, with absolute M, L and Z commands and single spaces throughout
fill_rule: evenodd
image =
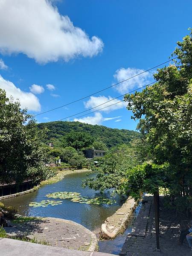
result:
M 175 57 L 175 58 L 170 59 L 169 61 L 173 61 L 173 60 L 175 60 L 176 58 L 178 58 L 178 56 Z M 131 77 L 129 77 L 128 79 L 125 79 L 125 80 L 123 80 L 123 81 L 120 81 L 120 82 L 118 82 L 118 83 L 116 83 L 116 84 L 113 84 L 113 85 L 111 85 L 111 86 L 109 86 L 109 87 L 106 87 L 106 88 L 104 88 L 104 89 L 102 89 L 102 90 L 99 90 L 99 91 L 97 91 L 97 92 L 95 92 L 95 93 L 92 93 L 92 94 L 90 94 L 90 95 L 88 95 L 88 96 L 85 96 L 85 97 L 83 97 L 83 98 L 81 98 L 81 99 L 76 99 L 76 100 L 74 100 L 73 102 L 69 102 L 69 103 L 67 103 L 67 104 L 65 104 L 65 105 L 62 105 L 62 106 L 59 106 L 59 107 L 57 107 L 57 108 L 52 108 L 52 109 L 50 109 L 50 110 L 48 110 L 48 111 L 44 111 L 44 112 L 42 112 L 42 113 L 36 114 L 35 116 L 39 116 L 39 115 L 42 115 L 42 114 L 44 114 L 44 113 L 48 113 L 48 112 L 50 112 L 50 111 L 54 111 L 54 110 L 56 110 L 56 109 L 58 109 L 58 108 L 66 107 L 66 106 L 71 105 L 71 104 L 73 104 L 73 103 L 75 103 L 75 102 L 79 102 L 79 101 L 81 101 L 81 100 L 83 100 L 83 99 L 87 99 L 87 98 L 90 97 L 90 96 L 93 96 L 93 95 L 95 95 L 95 94 L 97 94 L 97 93 L 101 93 L 101 92 L 103 92 L 104 90 L 107 90 L 107 89 L 109 89 L 109 88 L 111 88 L 111 87 L 113 87 L 113 86 L 116 86 L 117 84 L 121 84 L 121 83 L 123 83 L 123 82 L 125 82 L 125 81 L 128 81 L 129 79 L 132 79 L 132 78 L 134 78 L 134 77 L 136 77 L 136 76 L 139 76 L 139 75 L 141 75 L 141 74 L 143 74 L 143 73 L 145 73 L 145 72 L 148 72 L 148 71 L 150 71 L 150 70 L 152 70 L 152 69 L 154 69 L 154 68 L 156 68 L 156 67 L 159 67 L 159 66 L 161 66 L 161 65 L 163 65 L 163 64 L 166 64 L 166 63 L 169 62 L 169 61 L 165 61 L 165 62 L 163 62 L 163 63 L 161 63 L 161 64 L 159 64 L 159 65 L 157 65 L 157 66 L 155 66 L 155 67 L 151 67 L 150 69 L 145 70 L 145 71 L 143 71 L 143 72 L 141 72 L 141 73 L 138 73 L 138 74 L 135 75 L 135 76 L 131 76 Z

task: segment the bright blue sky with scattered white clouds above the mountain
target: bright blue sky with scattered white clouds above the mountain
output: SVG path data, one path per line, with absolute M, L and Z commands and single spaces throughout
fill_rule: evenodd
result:
M 102 90 L 167 61 L 188 33 L 191 10 L 191 0 L 1 1 L 0 88 L 34 114 Z M 152 72 L 36 119 L 56 121 L 150 81 Z M 124 103 L 78 120 L 137 125 Z

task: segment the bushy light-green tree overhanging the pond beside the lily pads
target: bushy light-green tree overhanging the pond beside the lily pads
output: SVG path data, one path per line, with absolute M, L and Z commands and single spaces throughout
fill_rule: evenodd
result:
M 128 195 L 127 170 L 140 163 L 138 141 L 129 145 L 119 145 L 97 159 L 97 166 L 90 164 L 90 169 L 97 172 L 96 177 L 87 178 L 83 187 L 99 190 L 114 189 L 119 195 Z

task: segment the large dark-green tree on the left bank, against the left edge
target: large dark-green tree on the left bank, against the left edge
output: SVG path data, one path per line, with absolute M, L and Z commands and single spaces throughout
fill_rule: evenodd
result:
M 26 109 L 0 89 L 0 183 L 21 183 L 26 178 L 40 183 L 52 175 L 45 166 L 49 149 L 41 143 L 42 137 Z

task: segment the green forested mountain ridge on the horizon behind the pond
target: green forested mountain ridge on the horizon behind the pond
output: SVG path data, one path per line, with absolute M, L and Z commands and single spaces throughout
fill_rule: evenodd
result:
M 130 130 L 119 130 L 114 128 L 108 128 L 103 125 L 89 125 L 81 122 L 46 122 L 38 124 L 38 128 L 47 128 L 47 137 L 45 143 L 53 142 L 55 146 L 60 146 L 63 136 L 70 131 L 80 131 L 90 134 L 94 140 L 105 143 L 108 148 L 112 146 L 128 143 L 140 137 L 140 133 Z

